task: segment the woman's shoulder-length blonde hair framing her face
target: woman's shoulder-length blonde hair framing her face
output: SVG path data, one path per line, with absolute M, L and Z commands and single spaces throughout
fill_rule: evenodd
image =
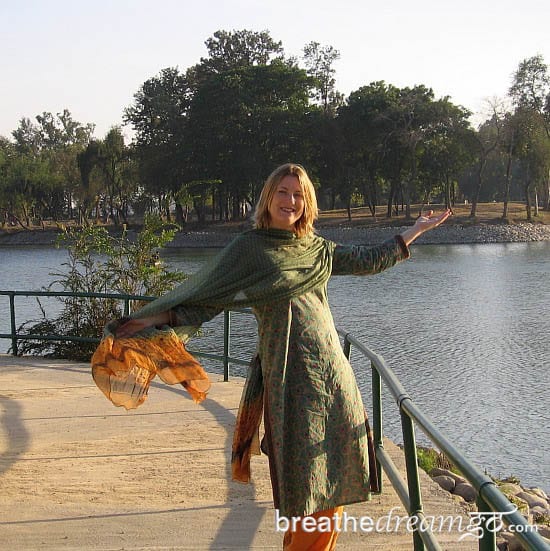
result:
M 254 211 L 254 227 L 258 229 L 269 228 L 271 222 L 269 205 L 271 204 L 273 195 L 275 195 L 275 191 L 277 191 L 277 187 L 281 183 L 281 180 L 286 176 L 296 176 L 302 188 L 304 212 L 302 216 L 300 216 L 300 219 L 294 224 L 294 233 L 298 237 L 303 237 L 304 235 L 313 233 L 313 223 L 319 216 L 319 209 L 317 208 L 315 188 L 305 168 L 294 163 L 286 163 L 276 168 L 265 181 L 264 187 L 260 193 L 260 199 L 256 205 L 256 210 Z

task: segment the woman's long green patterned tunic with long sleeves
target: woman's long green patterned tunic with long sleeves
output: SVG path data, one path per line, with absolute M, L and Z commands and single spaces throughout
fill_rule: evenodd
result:
M 292 235 L 279 233 L 287 240 Z M 409 254 L 399 237 L 376 247 L 330 244 L 325 250 L 332 275 L 375 274 Z M 275 507 L 291 517 L 368 500 L 365 411 L 328 305 L 327 278 L 252 308 Z M 172 308 L 178 324 L 190 326 L 206 321 L 203 310 Z

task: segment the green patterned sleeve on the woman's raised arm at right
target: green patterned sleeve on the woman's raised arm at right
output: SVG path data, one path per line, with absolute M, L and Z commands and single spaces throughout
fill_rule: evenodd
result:
M 381 245 L 337 245 L 332 259 L 332 275 L 371 275 L 409 258 L 410 251 L 400 235 Z

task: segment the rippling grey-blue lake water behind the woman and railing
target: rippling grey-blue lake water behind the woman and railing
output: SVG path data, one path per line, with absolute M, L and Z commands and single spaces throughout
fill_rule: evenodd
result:
M 193 272 L 211 254 L 168 250 L 163 257 Z M 55 248 L 0 248 L 0 289 L 40 289 L 66 258 Z M 382 274 L 332 278 L 329 297 L 336 324 L 385 358 L 413 400 L 478 467 L 550 491 L 549 274 L 548 241 L 418 245 L 411 260 Z M 17 309 L 18 323 L 39 315 L 34 299 L 17 299 Z M 8 330 L 8 301 L 0 297 L 0 332 Z M 239 356 L 252 353 L 254 332 L 253 318 L 237 315 Z M 216 320 L 193 346 L 214 350 L 220 335 Z M 8 347 L 0 341 L 0 352 Z M 354 369 L 368 405 L 369 368 Z M 399 442 L 397 409 L 389 394 L 384 400 L 385 433 Z

